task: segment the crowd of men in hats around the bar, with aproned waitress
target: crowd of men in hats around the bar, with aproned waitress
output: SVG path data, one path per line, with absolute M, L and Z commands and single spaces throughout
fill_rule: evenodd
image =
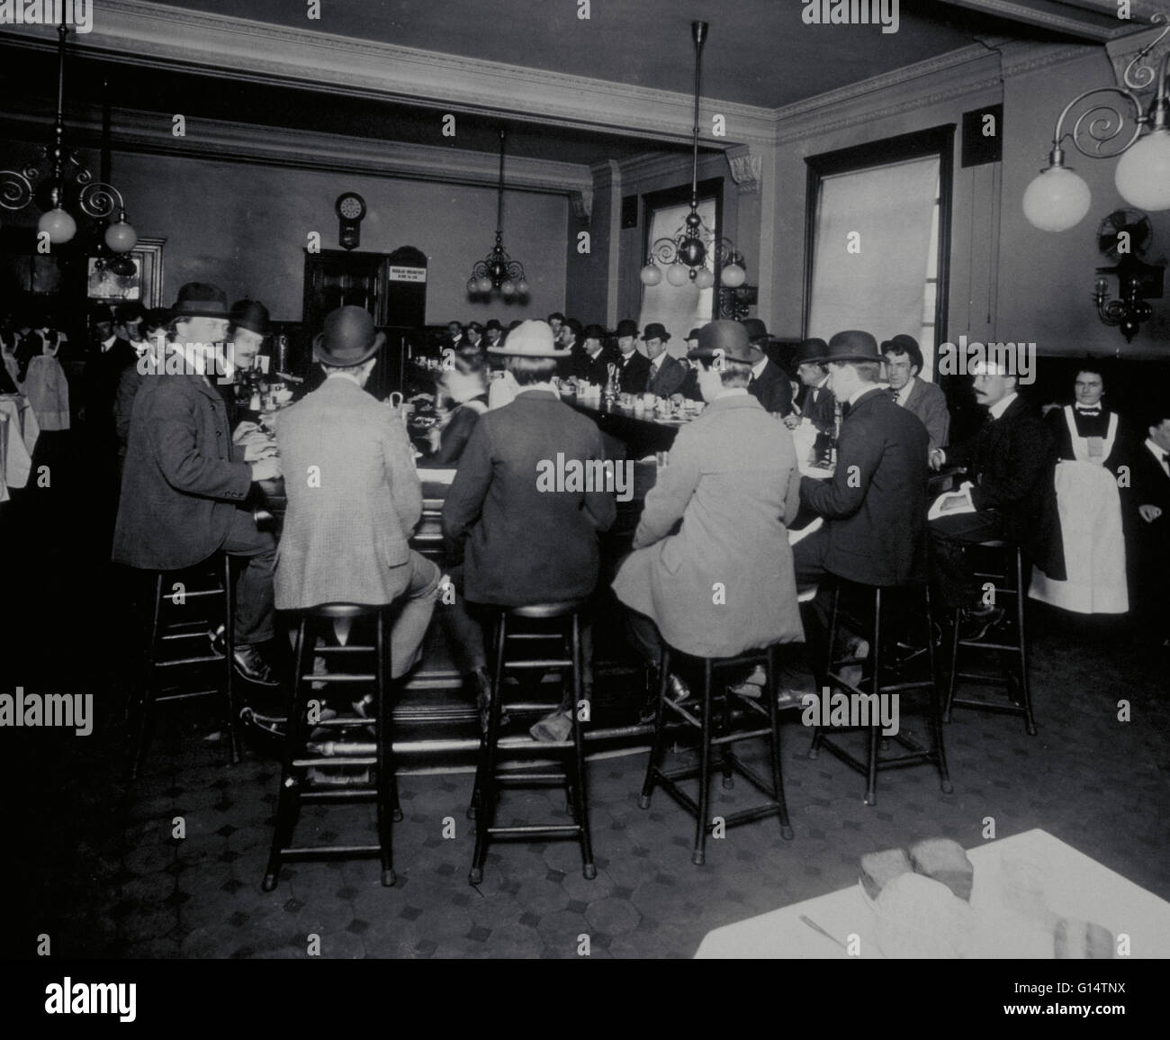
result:
M 312 337 L 324 382 L 280 413 L 275 432 L 242 419 L 232 390 L 233 369 L 250 364 L 269 330 L 261 305 L 229 307 L 222 289 L 188 283 L 165 313 L 130 316 L 133 337 L 124 341 L 112 315 L 97 323 L 99 340 L 81 367 L 87 422 L 102 430 L 90 450 L 122 470 L 112 478 L 121 488 L 112 559 L 178 570 L 216 553 L 239 557 L 235 666 L 253 683 L 281 685 L 268 645 L 276 611 L 393 604 L 392 675 L 415 666 L 438 610 L 486 710 L 484 611 L 596 593 L 598 536 L 615 516 L 612 488 L 550 491 L 537 475 L 558 456 L 604 458 L 597 425 L 563 403 L 552 382 L 569 374 L 592 381 L 603 364 L 607 377 L 615 365 L 627 392 L 661 389 L 706 403 L 679 431 L 612 583 L 629 644 L 652 666 L 663 644 L 729 657 L 805 643 L 810 662 L 821 662 L 838 582 L 930 581 L 938 602 L 958 608 L 969 637 L 971 629 L 978 637 L 1002 613 L 979 595 L 964 550 L 989 539 L 1025 548 L 1038 598 L 1081 613 L 1116 613 L 1121 603 L 1144 611 L 1159 642 L 1166 635 L 1157 601 L 1166 576 L 1170 411 L 1143 417 L 1133 435 L 1102 406 L 1103 378 L 1089 364 L 1075 403 L 1044 419 L 1014 375 L 984 363 L 972 384 L 986 423 L 952 444 L 947 401 L 918 377 L 922 355 L 904 335 L 879 344 L 846 330 L 806 341 L 793 379 L 769 357 L 766 330 L 753 319 L 693 329 L 686 357 L 668 353 L 660 324 L 639 337 L 636 324 L 622 321 L 611 337 L 558 314 L 510 330 L 453 322 L 453 364 L 438 388 L 449 408 L 428 445 L 435 464 L 456 471 L 442 511 L 445 576 L 411 547 L 421 514 L 419 452 L 401 413 L 364 389 L 384 342 L 365 310 L 343 307 L 324 320 Z M 36 330 L 18 331 L 19 341 L 6 330 L 5 370 L 26 385 L 25 344 Z M 36 335 L 49 350 L 51 337 Z M 144 365 L 152 351 L 174 363 Z M 490 379 L 493 365 L 507 378 Z M 503 383 L 507 394 L 493 401 L 491 388 Z M 792 431 L 804 423 L 832 433 L 831 474 L 801 474 L 807 460 L 797 457 Z M 930 508 L 931 471 L 956 466 L 963 483 Z M 254 484 L 280 475 L 288 511 L 277 553 L 245 504 Z M 821 524 L 793 546 L 798 515 Z M 797 590 L 813 584 L 819 591 L 801 609 Z M 336 636 L 346 638 L 343 625 Z M 689 696 L 681 676 L 669 677 L 669 687 Z M 780 696 L 791 703 L 799 691 Z M 534 735 L 562 739 L 567 707 Z

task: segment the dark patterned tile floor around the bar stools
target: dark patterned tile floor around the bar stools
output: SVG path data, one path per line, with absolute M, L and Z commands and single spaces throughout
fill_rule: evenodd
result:
M 34 514 L 35 515 L 35 514 Z M 0 518 L 2 520 L 2 518 Z M 955 793 L 925 767 L 885 773 L 875 807 L 862 779 L 830 755 L 811 761 L 790 714 L 784 775 L 796 836 L 749 823 L 690 862 L 691 823 L 665 793 L 638 808 L 645 754 L 594 760 L 590 805 L 598 876 L 581 877 L 576 843 L 496 844 L 472 888 L 468 773 L 406 775 L 394 828 L 398 884 L 377 861 L 287 867 L 262 892 L 278 765 L 249 750 L 223 765 L 206 707 L 168 717 L 144 776 L 122 779 L 119 662 L 124 620 L 111 616 L 108 574 L 78 562 L 69 515 L 6 534 L 35 545 L 9 554 L 0 689 L 97 695 L 92 735 L 0 731 L 14 796 L 2 801 L 4 889 L 28 946 L 49 935 L 60 957 L 689 957 L 723 924 L 855 883 L 873 849 L 947 835 L 979 843 L 987 817 L 1006 836 L 1042 827 L 1135 883 L 1170 898 L 1166 827 L 1170 709 L 1165 651 L 1115 625 L 1035 614 L 1034 699 L 1040 732 L 1012 717 L 957 711 L 945 730 Z M 4 522 L 0 522 L 0 528 Z M 12 541 L 7 542 L 13 545 Z M 1119 702 L 1130 721 L 1119 721 Z M 903 726 L 913 725 L 903 716 Z M 731 809 L 743 785 L 724 792 Z M 553 792 L 505 794 L 500 817 L 555 817 Z M 300 836 L 372 837 L 372 807 L 307 810 Z M 185 837 L 173 828 L 181 817 Z M 443 836 L 445 820 L 455 836 Z M 19 943 L 16 942 L 19 939 Z M 19 946 L 19 956 L 30 949 Z

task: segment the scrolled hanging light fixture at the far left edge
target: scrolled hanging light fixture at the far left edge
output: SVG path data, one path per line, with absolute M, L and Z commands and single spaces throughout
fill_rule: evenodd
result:
M 35 196 L 44 210 L 36 224 L 41 234 L 48 234 L 49 242 L 61 246 L 70 241 L 77 233 L 77 221 L 66 210 L 66 184 L 73 182 L 81 191 L 77 205 L 89 217 L 105 220 L 115 210 L 118 219 L 108 224 L 104 234 L 105 245 L 113 253 L 129 253 L 138 241 L 138 233 L 126 223 L 126 207 L 122 193 L 110 184 L 95 182 L 94 175 L 77 162 L 74 149 L 64 143 L 64 83 L 66 83 L 66 37 L 69 29 L 64 21 L 57 26 L 57 117 L 53 126 L 51 156 L 48 146 L 40 149 L 39 159 L 49 159 L 50 173 L 47 180 L 41 180 L 39 165 L 23 170 L 0 170 L 0 206 L 6 210 L 23 210 Z M 35 185 L 35 186 L 34 186 Z

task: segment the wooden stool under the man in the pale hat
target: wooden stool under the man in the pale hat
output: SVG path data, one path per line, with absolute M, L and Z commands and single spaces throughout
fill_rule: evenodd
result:
M 528 607 L 510 607 L 498 611 L 496 620 L 495 664 L 491 671 L 491 706 L 488 711 L 488 728 L 480 739 L 480 760 L 475 771 L 475 787 L 472 792 L 472 805 L 468 816 L 475 820 L 475 853 L 472 858 L 472 870 L 468 875 L 470 884 L 483 881 L 483 863 L 488 856 L 488 847 L 498 837 L 548 839 L 558 840 L 576 837 L 581 847 L 581 874 L 587 881 L 597 877 L 593 864 L 593 842 L 589 825 L 589 799 L 585 792 L 585 739 L 583 725 L 578 719 L 584 699 L 583 662 L 580 639 L 580 614 L 586 607 L 585 600 L 570 600 L 559 603 L 534 603 Z M 541 624 L 553 622 L 553 631 L 510 631 L 509 622 L 528 620 Z M 558 639 L 562 644 L 559 656 L 548 657 L 510 657 L 509 641 L 534 642 Z M 565 652 L 567 651 L 567 656 Z M 504 677 L 509 669 L 530 671 L 565 671 L 571 673 L 572 711 L 571 733 L 567 740 L 538 741 L 531 738 L 500 739 L 501 714 L 504 709 L 515 716 L 519 712 L 537 710 L 548 711 L 549 704 L 519 704 L 509 702 L 502 705 Z M 587 705 L 586 705 L 587 706 Z M 555 752 L 564 758 L 559 769 L 548 772 L 509 771 L 498 768 L 501 750 L 509 753 L 549 753 Z M 504 786 L 563 786 L 566 795 L 566 807 L 572 816 L 572 823 L 538 823 L 518 827 L 496 827 L 496 803 L 500 789 Z

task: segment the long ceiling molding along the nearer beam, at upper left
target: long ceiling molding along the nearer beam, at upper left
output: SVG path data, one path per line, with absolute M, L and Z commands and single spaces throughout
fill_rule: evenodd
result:
M 689 94 L 398 47 L 315 29 L 167 7 L 103 0 L 94 29 L 71 47 L 138 68 L 214 69 L 245 82 L 283 83 L 498 115 L 512 122 L 573 126 L 649 141 L 689 142 Z M 47 27 L 6 33 L 55 46 Z M 703 98 L 703 118 L 722 114 L 734 141 L 771 139 L 768 109 Z

